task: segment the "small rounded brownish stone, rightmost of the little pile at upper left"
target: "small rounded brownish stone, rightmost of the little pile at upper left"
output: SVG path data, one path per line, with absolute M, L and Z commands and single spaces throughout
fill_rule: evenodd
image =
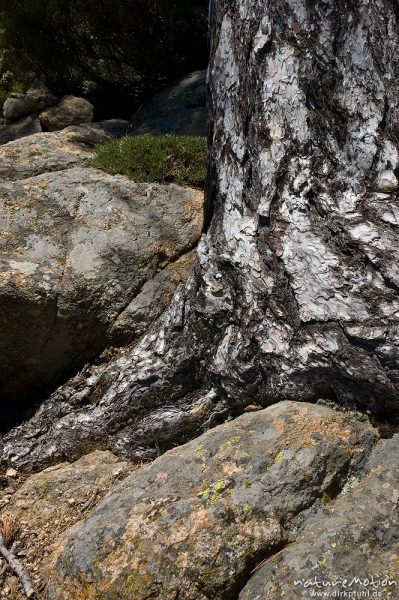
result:
M 91 123 L 94 107 L 85 98 L 64 96 L 60 102 L 48 110 L 40 113 L 40 123 L 47 131 L 57 131 L 70 125 Z

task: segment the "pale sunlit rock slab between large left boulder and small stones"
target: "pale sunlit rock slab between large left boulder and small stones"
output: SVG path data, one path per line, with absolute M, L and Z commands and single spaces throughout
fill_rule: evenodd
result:
M 114 119 L 16 140 L 0 148 L 0 180 L 89 166 L 94 145 L 124 135 L 126 128 L 127 121 Z

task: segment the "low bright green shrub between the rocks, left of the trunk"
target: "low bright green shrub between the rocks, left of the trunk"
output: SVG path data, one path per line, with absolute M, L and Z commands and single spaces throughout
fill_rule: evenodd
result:
M 206 139 L 178 135 L 139 135 L 96 147 L 93 166 L 134 181 L 177 183 L 203 188 Z

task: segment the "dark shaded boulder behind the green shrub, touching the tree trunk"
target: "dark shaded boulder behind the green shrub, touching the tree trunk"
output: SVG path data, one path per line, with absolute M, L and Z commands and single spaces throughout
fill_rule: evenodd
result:
M 206 136 L 206 71 L 196 71 L 157 94 L 135 115 L 130 132 Z

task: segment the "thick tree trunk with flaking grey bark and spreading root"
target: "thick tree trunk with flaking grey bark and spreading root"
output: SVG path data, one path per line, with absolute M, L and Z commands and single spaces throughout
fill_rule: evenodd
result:
M 162 319 L 6 437 L 154 455 L 250 404 L 399 405 L 396 0 L 218 0 L 198 263 Z

